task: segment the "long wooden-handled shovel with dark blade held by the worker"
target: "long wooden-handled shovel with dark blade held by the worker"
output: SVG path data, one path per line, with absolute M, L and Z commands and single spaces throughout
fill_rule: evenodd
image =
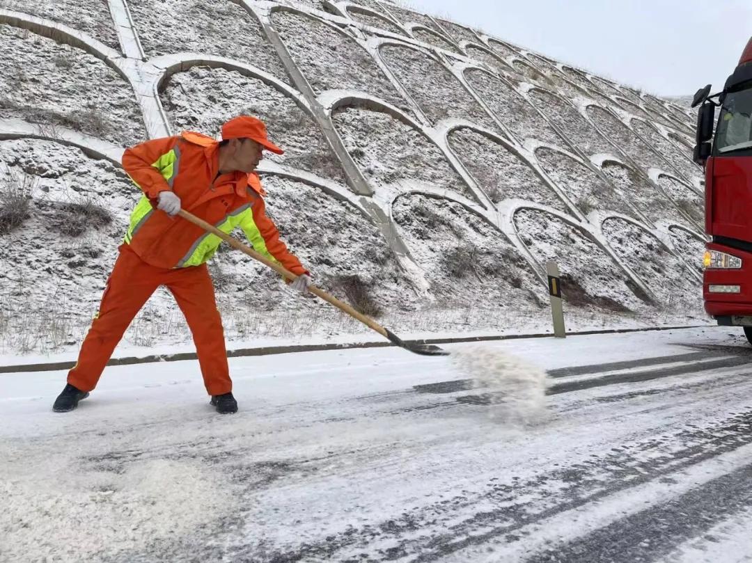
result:
M 247 247 L 245 244 L 241 243 L 236 238 L 231 237 L 227 233 L 220 231 L 220 229 L 217 229 L 217 227 L 210 225 L 205 220 L 199 219 L 199 217 L 191 213 L 188 213 L 186 210 L 183 210 L 183 209 L 178 211 L 177 214 L 183 217 L 183 219 L 186 219 L 186 221 L 190 221 L 194 225 L 201 227 L 206 232 L 211 232 L 213 235 L 217 235 L 219 238 L 221 238 L 231 247 L 237 248 L 238 250 L 242 250 L 251 258 L 258 260 L 259 262 L 262 262 L 263 264 L 267 265 L 272 270 L 276 271 L 278 274 L 281 274 L 282 276 L 286 277 L 288 280 L 294 281 L 298 278 L 295 274 L 293 274 L 293 272 L 288 271 L 287 268 L 284 268 L 284 266 L 277 264 L 276 262 L 272 262 L 270 259 L 266 258 L 266 256 L 263 256 L 262 254 L 257 253 L 256 250 L 253 250 L 252 248 Z M 408 342 L 403 341 L 402 338 L 398 337 L 388 328 L 384 328 L 383 326 L 378 324 L 378 322 L 374 321 L 374 319 L 371 319 L 370 317 L 365 316 L 362 313 L 359 313 L 358 311 L 353 309 L 353 307 L 351 307 L 347 303 L 344 303 L 343 301 L 340 301 L 338 298 L 335 298 L 334 296 L 329 295 L 329 293 L 323 291 L 323 289 L 319 289 L 316 286 L 308 286 L 308 291 L 322 298 L 324 301 L 329 301 L 329 303 L 337 307 L 339 310 L 344 311 L 348 315 L 352 316 L 354 319 L 358 319 L 364 325 L 368 326 L 368 328 L 372 328 L 374 331 L 377 331 L 379 334 L 381 334 L 381 336 L 388 338 L 391 342 L 393 342 L 393 344 L 396 344 L 400 348 L 404 348 L 405 350 L 408 350 L 408 352 L 412 352 L 414 354 L 420 354 L 421 356 L 448 356 L 449 355 L 449 353 L 446 350 L 441 350 L 441 348 L 439 348 L 438 346 L 433 346 L 432 344 L 415 344 L 415 343 L 408 343 Z

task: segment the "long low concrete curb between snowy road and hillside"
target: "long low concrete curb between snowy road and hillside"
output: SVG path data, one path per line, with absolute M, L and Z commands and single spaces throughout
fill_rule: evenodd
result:
M 703 328 L 714 325 L 688 325 L 688 326 L 662 326 L 655 328 L 610 328 L 607 330 L 592 331 L 573 331 L 568 332 L 568 336 L 585 336 L 587 334 L 617 334 L 623 332 L 647 332 L 647 331 L 666 331 L 678 330 L 681 328 Z M 466 342 L 488 342 L 488 341 L 505 341 L 520 340 L 523 338 L 544 338 L 553 337 L 551 333 L 537 334 L 496 334 L 490 336 L 468 336 L 456 338 L 426 338 L 423 340 L 406 341 L 410 344 L 462 344 Z M 297 344 L 291 346 L 268 346 L 259 348 L 240 348 L 238 350 L 228 350 L 228 358 L 239 358 L 242 356 L 270 356 L 272 354 L 293 354 L 299 352 L 322 352 L 326 350 L 351 350 L 354 348 L 382 348 L 394 346 L 387 341 L 379 342 L 357 342 L 353 344 Z M 133 365 L 148 364 L 152 362 L 182 362 L 183 360 L 197 359 L 196 353 L 186 352 L 180 354 L 162 354 L 154 356 L 135 356 L 128 358 L 116 358 L 107 362 L 107 365 Z M 22 364 L 0 366 L 0 374 L 19 374 L 28 371 L 56 371 L 71 369 L 76 362 L 53 362 L 46 364 Z

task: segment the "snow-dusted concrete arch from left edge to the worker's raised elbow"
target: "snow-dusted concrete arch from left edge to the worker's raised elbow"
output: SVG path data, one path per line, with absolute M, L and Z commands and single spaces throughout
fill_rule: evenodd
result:
M 11 139 L 50 141 L 68 147 L 76 147 L 89 158 L 108 160 L 120 167 L 120 159 L 124 152 L 123 147 L 65 127 L 56 127 L 55 131 L 57 135 L 49 135 L 44 126 L 36 126 L 23 120 L 0 120 L 0 141 Z

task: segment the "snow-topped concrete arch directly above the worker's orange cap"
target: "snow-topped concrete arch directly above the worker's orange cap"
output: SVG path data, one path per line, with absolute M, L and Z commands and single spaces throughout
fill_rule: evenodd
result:
M 144 68 L 149 71 L 151 80 L 150 86 L 153 95 L 159 99 L 159 95 L 162 93 L 162 90 L 165 88 L 173 74 L 187 71 L 194 66 L 223 68 L 228 71 L 237 71 L 246 77 L 261 80 L 266 85 L 276 89 L 277 92 L 292 99 L 296 105 L 300 107 L 305 114 L 311 117 L 311 119 L 314 120 L 314 123 L 316 123 L 316 116 L 314 115 L 313 110 L 311 110 L 308 100 L 306 100 L 296 89 L 293 89 L 291 86 L 287 85 L 287 83 L 284 83 L 272 74 L 262 71 L 260 68 L 247 65 L 243 62 L 236 61 L 235 59 L 226 59 L 219 56 L 200 55 L 197 53 L 176 53 L 174 55 L 162 55 L 150 59 L 150 61 L 144 65 Z

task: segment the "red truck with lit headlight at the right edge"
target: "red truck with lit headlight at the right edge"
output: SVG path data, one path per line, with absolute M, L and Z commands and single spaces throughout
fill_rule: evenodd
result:
M 709 236 L 702 297 L 719 325 L 743 327 L 752 344 L 752 38 L 723 91 L 710 91 L 699 89 L 692 103 L 700 106 L 694 159 L 705 166 Z

